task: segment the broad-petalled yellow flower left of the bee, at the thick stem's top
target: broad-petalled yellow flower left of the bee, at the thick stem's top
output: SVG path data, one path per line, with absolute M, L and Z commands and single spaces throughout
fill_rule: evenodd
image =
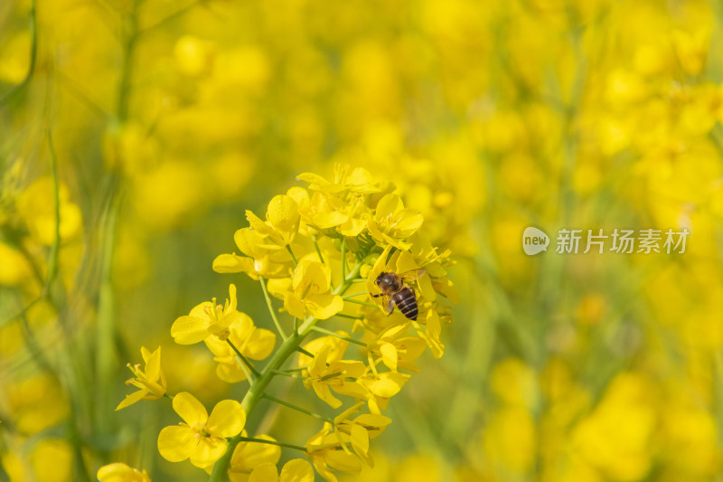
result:
M 343 299 L 331 294 L 331 280 L 332 271 L 328 264 L 301 260 L 284 296 L 286 311 L 302 319 L 307 315 L 326 319 L 342 311 Z

